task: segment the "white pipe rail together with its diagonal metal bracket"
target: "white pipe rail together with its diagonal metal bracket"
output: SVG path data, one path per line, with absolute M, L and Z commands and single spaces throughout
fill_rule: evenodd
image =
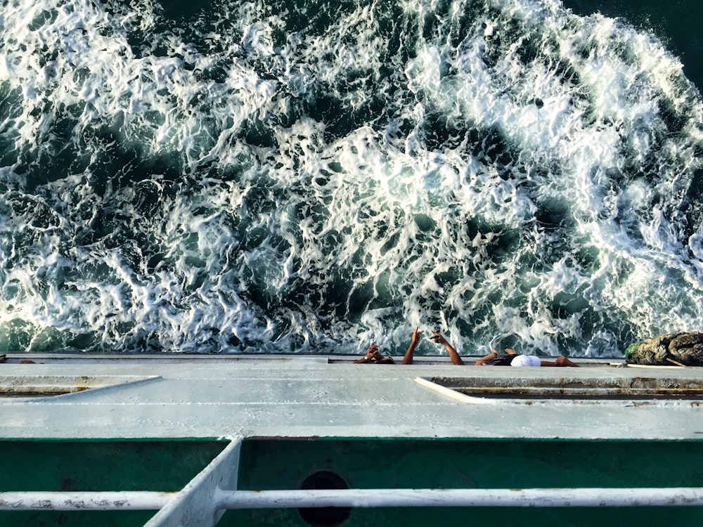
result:
M 146 525 L 166 527 L 214 526 L 228 509 L 703 506 L 700 487 L 238 490 L 242 441 L 231 441 L 180 492 L 3 492 L 0 511 L 157 510 Z

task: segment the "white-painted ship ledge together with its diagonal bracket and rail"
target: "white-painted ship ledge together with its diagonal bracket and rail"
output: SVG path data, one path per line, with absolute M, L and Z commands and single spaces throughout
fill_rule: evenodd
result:
M 20 363 L 32 360 L 32 363 Z M 1 510 L 153 509 L 150 527 L 214 526 L 226 509 L 274 507 L 703 506 L 703 488 L 237 490 L 243 438 L 703 438 L 700 398 L 510 396 L 511 387 L 656 385 L 699 391 L 699 368 L 355 365 L 325 357 L 8 356 L 0 438 L 229 438 L 179 493 L 0 493 Z M 432 382 L 507 391 L 467 396 Z M 79 391 L 73 391 L 79 390 Z M 73 393 L 62 393 L 73 391 Z M 617 390 L 616 390 L 617 391 Z M 22 396 L 22 393 L 33 396 Z M 43 393 L 44 396 L 37 396 Z M 15 396 L 9 396 L 9 395 Z M 18 396 L 19 395 L 19 396 Z

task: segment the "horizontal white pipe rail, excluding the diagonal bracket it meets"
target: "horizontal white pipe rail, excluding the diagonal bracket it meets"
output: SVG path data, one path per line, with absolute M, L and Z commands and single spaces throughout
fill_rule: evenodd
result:
M 174 493 L 0 493 L 0 510 L 161 509 Z M 216 490 L 214 509 L 703 506 L 703 488 Z

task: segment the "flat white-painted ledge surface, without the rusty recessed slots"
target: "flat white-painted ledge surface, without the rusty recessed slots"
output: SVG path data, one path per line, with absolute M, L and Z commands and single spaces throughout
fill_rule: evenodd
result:
M 0 364 L 3 376 L 154 376 L 47 398 L 0 398 L 0 438 L 430 437 L 703 439 L 703 401 L 475 404 L 417 377 L 703 378 L 703 368 L 355 365 L 322 358 Z M 517 370 L 517 371 L 516 371 Z

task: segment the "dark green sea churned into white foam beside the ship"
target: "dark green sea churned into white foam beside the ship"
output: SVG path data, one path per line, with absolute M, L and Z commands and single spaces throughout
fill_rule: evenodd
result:
M 0 350 L 700 330 L 701 10 L 4 0 Z

